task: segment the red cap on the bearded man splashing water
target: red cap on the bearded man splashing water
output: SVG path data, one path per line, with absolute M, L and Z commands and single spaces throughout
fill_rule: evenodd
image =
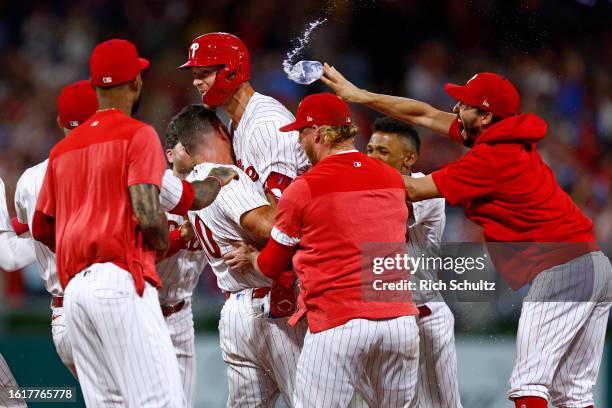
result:
M 465 85 L 444 85 L 444 90 L 454 99 L 478 106 L 500 118 L 519 113 L 521 97 L 510 81 L 501 75 L 481 72 Z

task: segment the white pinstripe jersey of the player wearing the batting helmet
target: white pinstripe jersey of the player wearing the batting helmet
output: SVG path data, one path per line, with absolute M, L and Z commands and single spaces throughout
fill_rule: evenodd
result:
M 238 167 L 261 186 L 271 172 L 294 179 L 310 167 L 298 132 L 278 130 L 294 120 L 293 114 L 274 98 L 255 92 L 249 99 L 232 143 Z

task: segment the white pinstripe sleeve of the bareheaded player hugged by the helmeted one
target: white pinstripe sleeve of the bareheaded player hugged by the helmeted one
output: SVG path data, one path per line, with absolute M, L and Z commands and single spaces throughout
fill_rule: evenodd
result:
M 242 172 L 239 180 L 234 180 L 221 189 L 217 201 L 218 208 L 236 225 L 240 225 L 242 214 L 264 205 L 270 205 L 263 191 L 259 189 L 259 185 Z

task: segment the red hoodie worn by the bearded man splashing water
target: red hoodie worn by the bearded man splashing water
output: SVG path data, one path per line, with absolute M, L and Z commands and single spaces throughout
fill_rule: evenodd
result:
M 495 266 L 513 289 L 597 248 L 593 223 L 536 150 L 546 131 L 546 122 L 530 113 L 504 119 L 480 135 L 463 158 L 432 173 L 446 200 L 482 226 Z M 457 121 L 449 136 L 463 143 Z

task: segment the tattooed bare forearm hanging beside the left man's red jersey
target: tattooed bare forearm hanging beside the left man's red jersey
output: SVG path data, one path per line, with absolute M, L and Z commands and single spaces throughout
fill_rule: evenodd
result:
M 168 249 L 168 220 L 159 205 L 159 192 L 153 184 L 129 187 L 132 209 L 147 244 L 157 251 Z

